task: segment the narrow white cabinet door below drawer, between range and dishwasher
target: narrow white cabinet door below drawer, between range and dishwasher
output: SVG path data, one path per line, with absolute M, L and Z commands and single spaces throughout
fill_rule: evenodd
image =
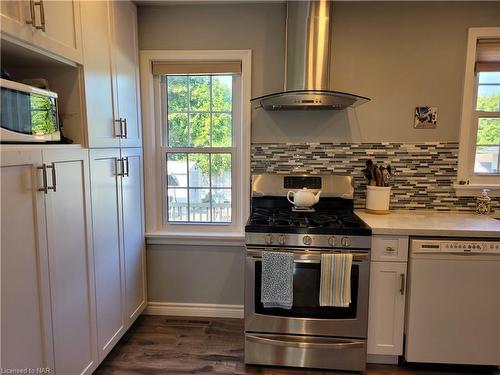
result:
M 406 263 L 372 262 L 368 354 L 403 354 Z

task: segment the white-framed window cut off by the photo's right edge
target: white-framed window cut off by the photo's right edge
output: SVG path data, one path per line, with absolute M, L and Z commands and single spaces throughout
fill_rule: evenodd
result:
M 458 195 L 500 193 L 500 28 L 469 29 Z

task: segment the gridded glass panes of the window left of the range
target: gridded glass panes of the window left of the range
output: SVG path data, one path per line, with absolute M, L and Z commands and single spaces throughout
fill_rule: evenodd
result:
M 232 221 L 236 79 L 233 74 L 162 76 L 168 222 Z

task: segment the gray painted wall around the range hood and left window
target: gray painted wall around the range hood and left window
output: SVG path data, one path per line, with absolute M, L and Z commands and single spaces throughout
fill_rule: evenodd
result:
M 499 26 L 500 2 L 338 2 L 332 89 L 372 101 L 329 113 L 252 113 L 252 141 L 458 141 L 468 27 Z M 283 87 L 283 3 L 141 6 L 140 49 L 251 49 L 252 95 Z M 415 106 L 436 130 L 412 129 Z M 148 246 L 149 299 L 243 303 L 243 248 Z

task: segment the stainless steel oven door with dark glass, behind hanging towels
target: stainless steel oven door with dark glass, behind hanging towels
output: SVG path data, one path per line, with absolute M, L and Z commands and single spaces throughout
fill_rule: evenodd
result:
M 370 254 L 352 251 L 351 304 L 348 307 L 319 305 L 321 250 L 294 252 L 293 305 L 290 310 L 265 308 L 260 301 L 263 248 L 248 248 L 245 266 L 245 330 L 366 338 Z M 329 249 L 324 250 L 330 253 Z

